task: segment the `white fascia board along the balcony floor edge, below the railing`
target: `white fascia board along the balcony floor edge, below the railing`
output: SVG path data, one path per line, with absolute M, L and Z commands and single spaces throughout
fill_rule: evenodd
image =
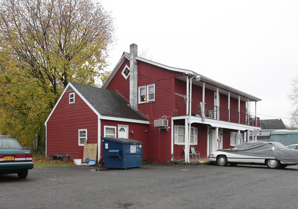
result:
M 185 119 L 185 118 L 189 118 L 189 116 L 188 115 L 172 116 L 173 120 Z M 224 128 L 224 129 L 235 129 L 235 130 L 241 130 L 241 131 L 246 131 L 246 130 L 253 131 L 254 129 L 261 130 L 260 127 L 247 126 L 244 124 L 236 124 L 232 122 L 220 121 L 220 120 L 209 119 L 209 118 L 205 118 L 205 121 L 203 122 L 201 117 L 196 117 L 196 116 L 191 116 L 191 122 L 199 123 L 199 124 L 209 124 L 212 127 L 218 127 L 218 128 Z

